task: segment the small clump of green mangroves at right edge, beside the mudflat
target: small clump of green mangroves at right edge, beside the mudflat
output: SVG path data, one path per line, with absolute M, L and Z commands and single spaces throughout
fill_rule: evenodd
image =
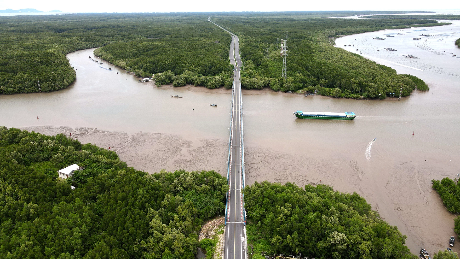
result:
M 458 181 L 445 177 L 441 181 L 431 180 L 433 183 L 433 189 L 437 191 L 441 199 L 443 200 L 444 206 L 449 212 L 454 214 L 460 214 L 460 185 Z M 460 216 L 454 220 L 455 227 L 454 231 L 460 235 Z

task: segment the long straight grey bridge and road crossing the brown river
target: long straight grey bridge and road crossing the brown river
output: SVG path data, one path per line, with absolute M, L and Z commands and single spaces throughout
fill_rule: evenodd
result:
M 211 17 L 207 20 L 213 23 Z M 244 187 L 244 138 L 240 83 L 240 67 L 242 62 L 238 46 L 238 36 L 220 26 L 219 28 L 230 33 L 232 37 L 229 57 L 230 64 L 235 66 L 230 117 L 227 170 L 227 180 L 230 189 L 227 193 L 225 206 L 224 259 L 247 259 L 246 211 L 244 210 L 243 195 L 241 194 L 241 189 Z

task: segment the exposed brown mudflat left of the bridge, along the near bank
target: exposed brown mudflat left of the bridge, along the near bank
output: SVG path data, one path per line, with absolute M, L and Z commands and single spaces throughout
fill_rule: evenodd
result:
M 159 172 L 214 170 L 227 174 L 227 141 L 216 138 L 193 138 L 184 135 L 152 132 L 127 133 L 89 127 L 33 126 L 23 130 L 45 135 L 63 133 L 81 143 L 92 143 L 115 151 L 120 159 L 137 170 Z M 109 148 L 110 147 L 110 148 Z

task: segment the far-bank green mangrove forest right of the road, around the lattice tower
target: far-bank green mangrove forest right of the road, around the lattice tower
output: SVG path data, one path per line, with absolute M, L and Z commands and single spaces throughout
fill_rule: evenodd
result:
M 244 58 L 242 86 L 278 91 L 311 91 L 351 98 L 385 98 L 403 85 L 403 96 L 415 88 L 427 90 L 416 77 L 397 75 L 394 69 L 332 46 L 333 38 L 380 29 L 432 24 L 434 20 L 292 19 L 219 16 L 220 25 L 240 35 Z M 288 78 L 281 77 L 282 57 L 277 41 L 288 31 Z M 267 48 L 269 58 L 266 58 Z M 420 83 L 422 82 L 422 83 Z M 380 95 L 379 95 L 380 94 Z

